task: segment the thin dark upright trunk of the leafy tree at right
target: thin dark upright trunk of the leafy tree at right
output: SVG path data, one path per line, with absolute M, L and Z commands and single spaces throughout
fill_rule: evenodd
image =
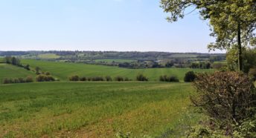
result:
M 243 55 L 242 55 L 240 23 L 238 23 L 237 25 L 237 42 L 238 42 L 238 71 L 240 72 L 243 70 Z

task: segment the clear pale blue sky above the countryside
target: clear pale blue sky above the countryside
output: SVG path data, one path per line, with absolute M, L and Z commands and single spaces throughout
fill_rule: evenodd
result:
M 198 12 L 170 23 L 159 5 L 159 0 L 0 0 L 0 50 L 208 53 L 214 39 Z

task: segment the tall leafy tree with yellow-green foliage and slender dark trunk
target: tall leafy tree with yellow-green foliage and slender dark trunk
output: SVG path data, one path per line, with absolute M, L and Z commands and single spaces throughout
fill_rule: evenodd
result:
M 216 42 L 209 50 L 235 46 L 238 50 L 238 70 L 242 70 L 242 47 L 255 45 L 256 1 L 255 0 L 161 0 L 164 12 L 170 13 L 169 22 L 184 18 L 190 7 L 198 10 L 202 19 L 211 25 L 211 36 Z

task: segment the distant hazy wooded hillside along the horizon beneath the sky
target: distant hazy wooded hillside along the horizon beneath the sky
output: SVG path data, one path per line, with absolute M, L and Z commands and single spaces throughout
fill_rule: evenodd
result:
M 224 53 L 169 53 L 169 52 L 118 52 L 118 51 L 0 51 L 0 56 L 22 56 L 26 59 L 41 59 L 49 58 L 51 56 L 42 56 L 42 54 L 49 54 L 54 59 L 173 59 L 173 58 L 210 58 L 220 57 L 225 59 Z

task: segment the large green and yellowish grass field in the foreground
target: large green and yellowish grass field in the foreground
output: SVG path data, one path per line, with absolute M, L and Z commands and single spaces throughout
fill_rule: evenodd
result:
M 0 137 L 184 137 L 189 83 L 45 82 L 0 85 Z

